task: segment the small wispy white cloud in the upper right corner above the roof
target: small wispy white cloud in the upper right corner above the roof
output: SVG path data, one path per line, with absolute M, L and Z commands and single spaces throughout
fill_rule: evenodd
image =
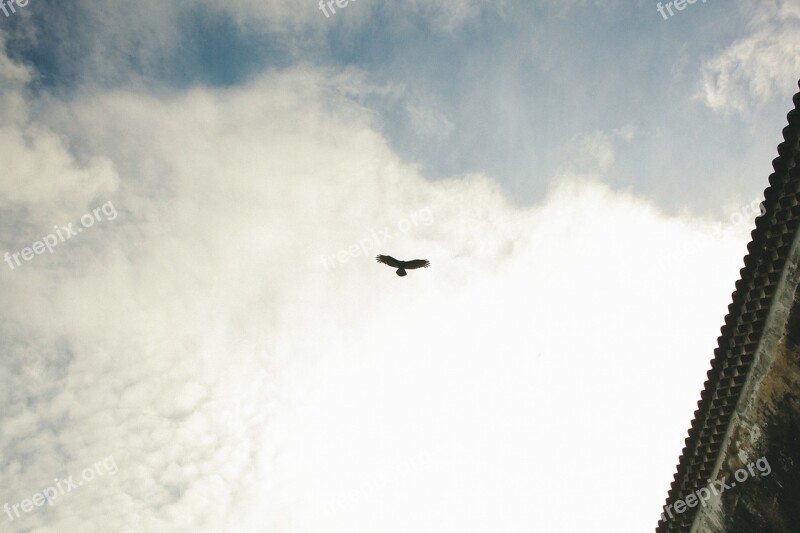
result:
M 800 4 L 769 0 L 742 4 L 749 34 L 706 61 L 698 94 L 708 107 L 745 113 L 792 93 L 800 73 Z

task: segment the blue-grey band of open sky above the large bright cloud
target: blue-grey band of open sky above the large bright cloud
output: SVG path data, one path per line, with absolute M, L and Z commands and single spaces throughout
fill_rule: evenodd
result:
M 744 113 L 720 113 L 702 100 L 703 76 L 719 76 L 709 63 L 753 31 L 748 10 L 758 5 L 695 4 L 668 20 L 642 2 L 464 6 L 458 8 L 463 14 L 451 15 L 464 20 L 448 25 L 445 15 L 432 17 L 425 9 L 354 2 L 329 19 L 320 11 L 304 13 L 311 20 L 289 32 L 237 22 L 247 15 L 229 6 L 183 3 L 152 29 L 117 32 L 113 23 L 139 20 L 145 10 L 110 14 L 90 4 L 49 8 L 40 2 L 30 20 L 13 21 L 27 25 L 26 35 L 30 26 L 39 29 L 36 44 L 20 38 L 10 51 L 59 91 L 132 80 L 171 88 L 231 86 L 298 63 L 355 68 L 368 83 L 394 89 L 360 103 L 379 114 L 382 132 L 405 158 L 434 178 L 489 173 L 524 202 L 542 198 L 587 131 L 635 131 L 629 142 L 615 143 L 610 181 L 671 211 L 713 211 L 728 199 L 718 196 L 720 190 L 741 191 L 751 181 L 742 175 L 763 174 L 762 161 L 780 140 L 774 124 L 793 94 L 791 57 L 778 67 L 787 75 L 774 75 L 779 85 L 766 101 Z M 112 24 L 98 35 L 108 19 Z M 433 131 L 414 122 L 422 113 Z M 644 172 L 648 167 L 658 176 Z

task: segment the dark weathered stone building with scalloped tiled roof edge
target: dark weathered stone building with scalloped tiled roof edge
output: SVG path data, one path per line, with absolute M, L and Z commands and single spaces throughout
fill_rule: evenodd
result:
M 800 93 L 656 531 L 800 532 Z

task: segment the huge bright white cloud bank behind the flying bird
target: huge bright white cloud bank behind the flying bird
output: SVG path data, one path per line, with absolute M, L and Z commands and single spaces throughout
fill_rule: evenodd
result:
M 614 531 L 652 527 L 746 234 L 666 217 L 590 161 L 538 206 L 484 176 L 429 182 L 326 74 L 79 95 L 6 124 L 16 201 L 63 191 L 78 216 L 101 191 L 120 214 L 0 273 L 0 501 L 119 470 L 4 524 L 576 531 L 619 505 Z M 15 144 L 25 128 L 63 140 L 46 148 L 68 181 L 26 181 L 44 149 Z M 425 208 L 370 252 L 430 269 L 321 264 Z

